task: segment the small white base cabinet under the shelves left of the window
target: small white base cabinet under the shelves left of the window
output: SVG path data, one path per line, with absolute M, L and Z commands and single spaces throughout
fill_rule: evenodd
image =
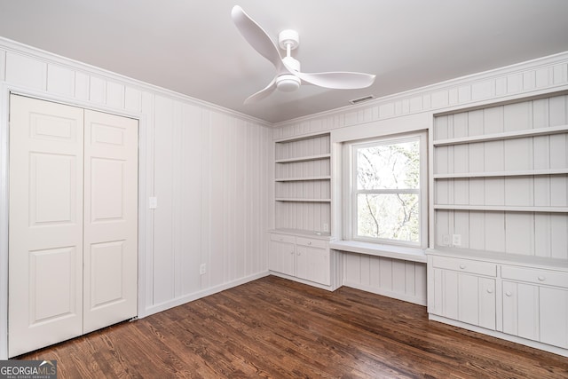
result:
M 332 265 L 328 245 L 328 239 L 271 233 L 269 269 L 288 279 L 332 286 L 331 276 L 335 265 Z

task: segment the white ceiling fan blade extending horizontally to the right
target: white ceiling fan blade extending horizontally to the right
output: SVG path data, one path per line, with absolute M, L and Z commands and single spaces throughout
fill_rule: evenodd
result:
M 291 71 L 303 82 L 319 87 L 332 88 L 335 90 L 355 90 L 366 88 L 375 82 L 375 76 L 363 73 L 329 72 L 329 73 L 301 73 Z

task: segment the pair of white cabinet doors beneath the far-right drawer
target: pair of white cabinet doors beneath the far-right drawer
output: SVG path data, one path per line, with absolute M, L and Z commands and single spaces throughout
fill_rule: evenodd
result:
M 568 348 L 568 290 L 504 280 L 503 332 Z

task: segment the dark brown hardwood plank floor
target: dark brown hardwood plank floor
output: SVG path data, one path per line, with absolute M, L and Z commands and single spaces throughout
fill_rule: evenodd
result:
M 269 276 L 35 351 L 59 378 L 566 378 L 568 359 L 428 320 L 426 308 Z

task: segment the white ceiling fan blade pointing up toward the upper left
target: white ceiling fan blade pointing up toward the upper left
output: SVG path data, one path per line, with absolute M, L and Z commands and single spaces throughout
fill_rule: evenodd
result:
M 252 20 L 239 5 L 233 6 L 231 17 L 233 18 L 234 25 L 239 29 L 241 35 L 245 37 L 248 43 L 265 59 L 270 60 L 274 67 L 276 67 L 276 70 L 280 72 L 284 68 L 280 51 L 264 29 L 261 28 L 255 20 Z

